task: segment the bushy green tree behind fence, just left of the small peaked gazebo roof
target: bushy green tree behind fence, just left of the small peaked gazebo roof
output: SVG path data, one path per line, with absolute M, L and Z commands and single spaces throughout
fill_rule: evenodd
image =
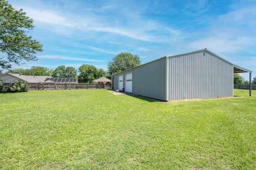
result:
M 104 74 L 103 69 L 97 69 L 93 65 L 83 64 L 78 68 L 78 71 L 80 72 L 78 76 L 78 82 L 80 83 L 91 83 L 92 80 L 95 80 L 97 78 L 100 78 Z

